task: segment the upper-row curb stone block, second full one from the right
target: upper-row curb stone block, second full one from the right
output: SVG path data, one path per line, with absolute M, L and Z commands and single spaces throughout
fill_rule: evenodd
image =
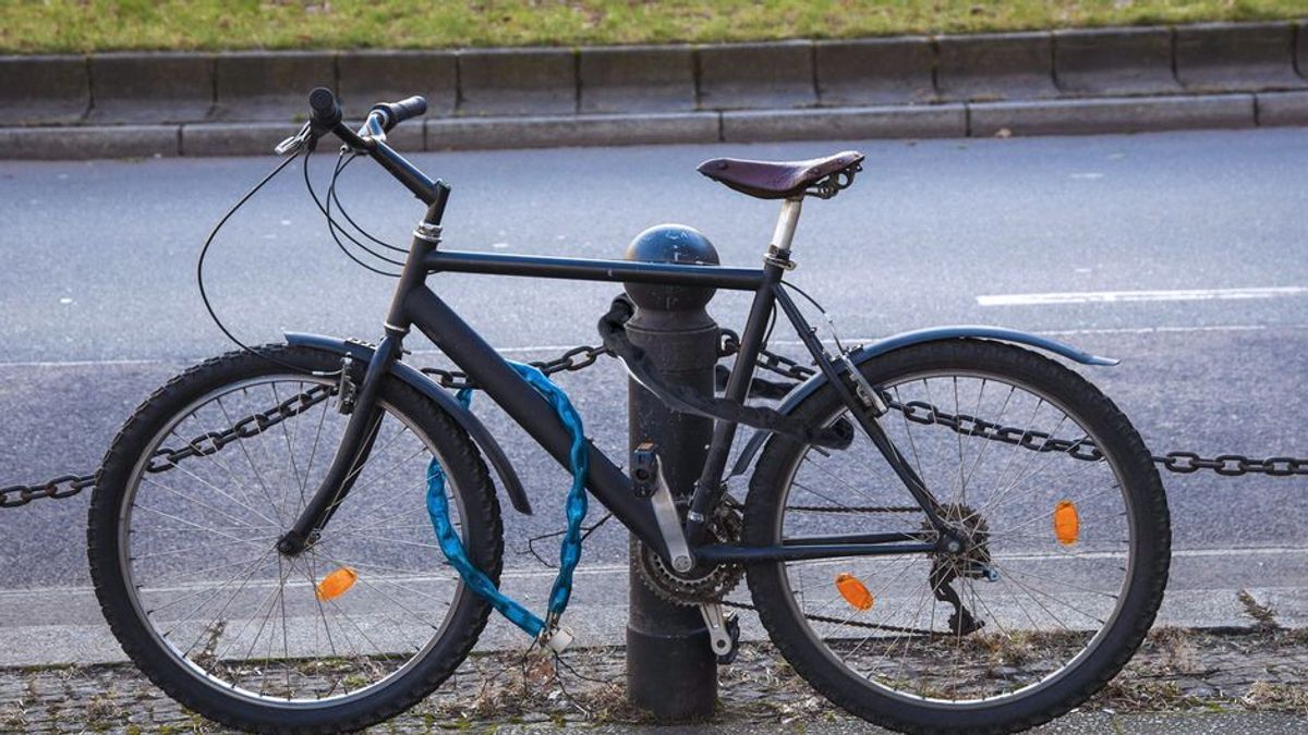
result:
M 1181 85 L 1172 72 L 1172 30 L 1056 30 L 1054 80 L 1069 94 L 1179 93 Z

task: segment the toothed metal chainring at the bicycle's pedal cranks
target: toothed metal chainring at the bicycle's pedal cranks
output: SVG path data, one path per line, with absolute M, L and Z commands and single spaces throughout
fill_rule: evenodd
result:
M 709 535 L 721 544 L 740 541 L 744 522 L 740 505 L 730 497 L 723 498 L 718 511 L 709 523 Z M 740 583 L 744 566 L 740 564 L 696 565 L 685 574 L 674 572 L 654 549 L 632 536 L 630 555 L 641 582 L 654 595 L 664 602 L 680 606 L 697 606 L 722 602 Z

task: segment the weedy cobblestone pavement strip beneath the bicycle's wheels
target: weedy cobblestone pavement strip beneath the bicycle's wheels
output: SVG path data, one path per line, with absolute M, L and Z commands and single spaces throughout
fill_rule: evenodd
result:
M 438 692 L 373 731 L 663 730 L 649 727 L 625 704 L 623 666 L 620 647 L 569 651 L 561 664 L 513 651 L 473 655 Z M 1308 630 L 1164 628 L 1103 693 L 1042 730 L 1303 732 L 1305 680 Z M 721 708 L 704 726 L 742 727 L 870 730 L 818 696 L 766 645 L 744 646 L 736 662 L 722 668 Z M 0 731 L 225 730 L 165 697 L 129 666 L 92 666 L 0 670 Z

